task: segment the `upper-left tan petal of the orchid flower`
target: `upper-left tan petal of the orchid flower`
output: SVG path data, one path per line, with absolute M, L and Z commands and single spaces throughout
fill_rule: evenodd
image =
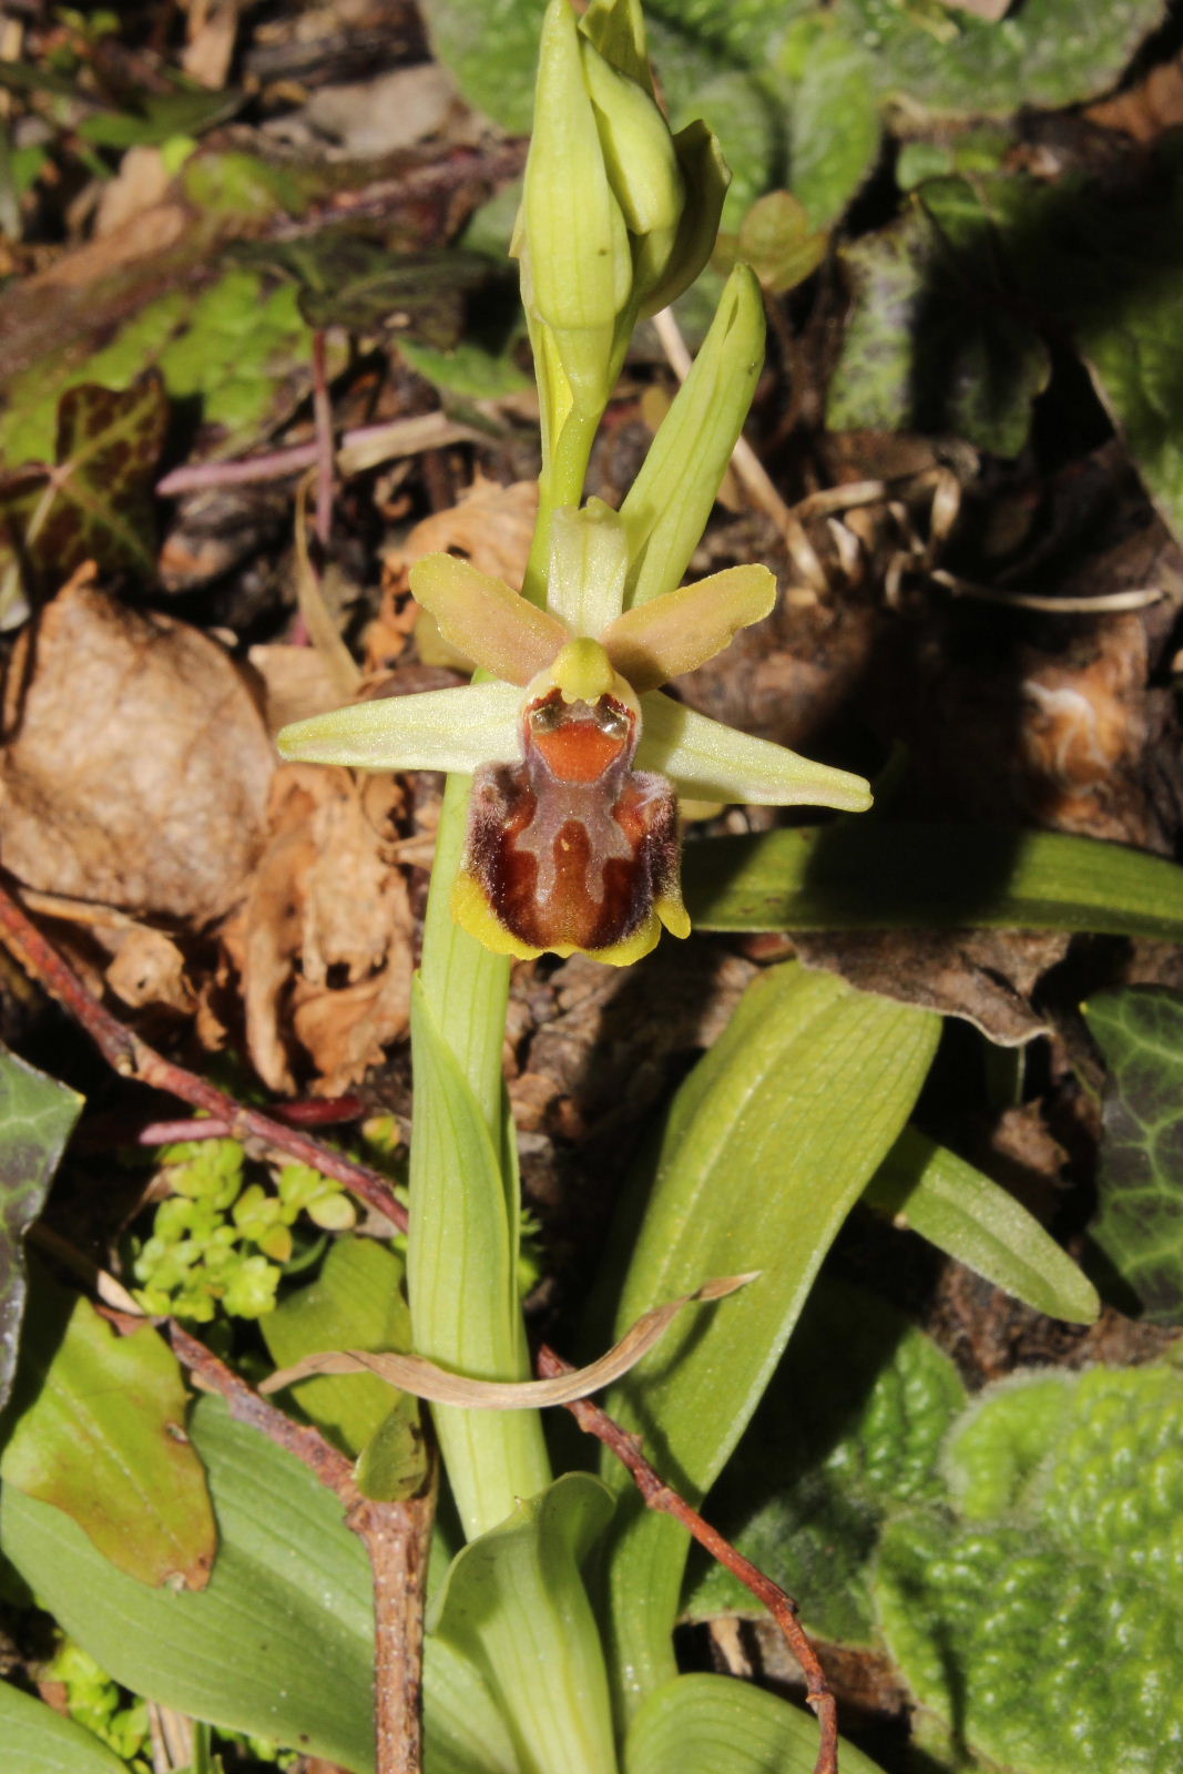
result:
M 562 623 L 511 591 L 504 578 L 456 555 L 424 555 L 411 568 L 411 591 L 449 646 L 504 683 L 525 685 L 568 640 Z

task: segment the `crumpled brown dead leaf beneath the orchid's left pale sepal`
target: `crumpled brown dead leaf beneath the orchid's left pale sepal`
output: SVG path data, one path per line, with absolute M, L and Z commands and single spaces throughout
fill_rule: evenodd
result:
M 284 765 L 270 834 L 243 914 L 225 940 L 243 981 L 247 1047 L 275 1091 L 296 1052 L 335 1096 L 404 1034 L 411 908 L 390 846 L 403 793 L 387 775 Z

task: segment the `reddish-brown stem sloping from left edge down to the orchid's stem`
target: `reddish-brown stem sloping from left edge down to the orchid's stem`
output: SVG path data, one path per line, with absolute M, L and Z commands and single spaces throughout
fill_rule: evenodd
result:
M 325 1146 L 319 1139 L 310 1139 L 300 1128 L 284 1126 L 273 1116 L 236 1102 L 234 1096 L 220 1091 L 195 1071 L 186 1071 L 184 1066 L 176 1066 L 170 1059 L 165 1059 L 163 1054 L 158 1054 L 154 1047 L 149 1047 L 138 1034 L 133 1034 L 117 1017 L 112 1017 L 94 993 L 87 990 L 69 962 L 41 935 L 4 885 L 0 885 L 0 940 L 12 951 L 25 970 L 41 981 L 44 990 L 82 1024 L 103 1057 L 121 1077 L 137 1079 L 153 1089 L 168 1091 L 172 1096 L 179 1096 L 181 1102 L 192 1103 L 193 1109 L 202 1109 L 206 1114 L 218 1118 L 234 1139 L 262 1141 L 289 1158 L 321 1171 L 323 1176 L 335 1178 L 349 1194 L 385 1213 L 394 1226 L 406 1231 L 406 1208 L 380 1171 L 346 1158 L 344 1153 L 333 1151 L 332 1146 Z

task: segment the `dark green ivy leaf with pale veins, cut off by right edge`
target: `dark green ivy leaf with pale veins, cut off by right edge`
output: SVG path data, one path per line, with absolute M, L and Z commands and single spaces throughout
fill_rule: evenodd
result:
M 1151 1323 L 1183 1322 L 1183 995 L 1101 992 L 1084 1017 L 1109 1066 L 1089 1236 Z M 1117 1304 L 1123 1304 L 1119 1300 Z

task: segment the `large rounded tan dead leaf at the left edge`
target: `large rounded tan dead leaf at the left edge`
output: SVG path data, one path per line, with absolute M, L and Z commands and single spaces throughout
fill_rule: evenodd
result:
M 275 768 L 225 651 L 78 573 L 5 685 L 0 857 L 28 887 L 206 924 L 245 891 Z

